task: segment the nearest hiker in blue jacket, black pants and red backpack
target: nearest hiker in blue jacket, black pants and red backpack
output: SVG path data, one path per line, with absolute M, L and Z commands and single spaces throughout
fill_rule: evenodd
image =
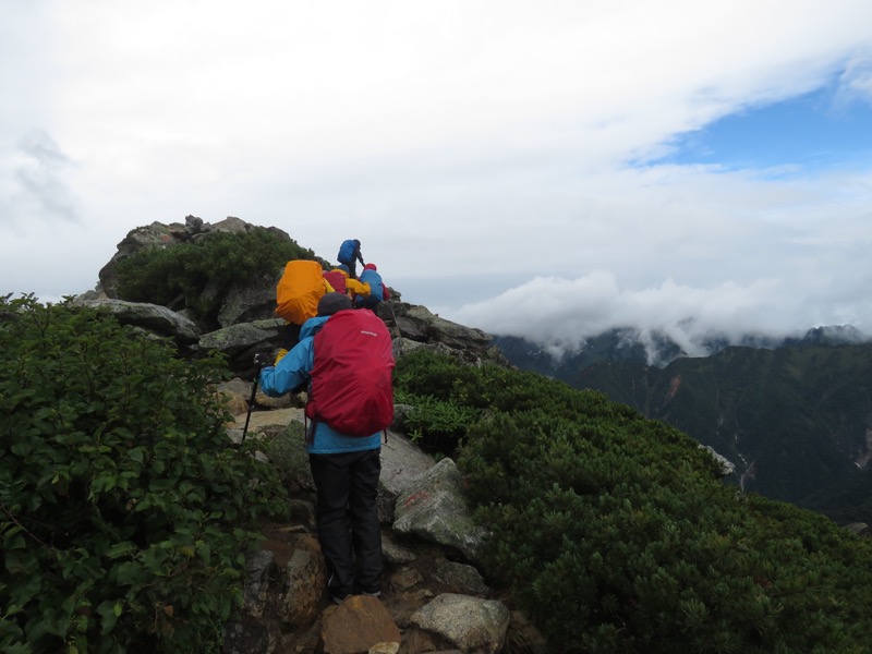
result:
M 263 391 L 308 387 L 306 450 L 317 488 L 318 541 L 336 603 L 382 592 L 382 533 L 376 505 L 382 433 L 393 419 L 390 335 L 351 299 L 327 293 L 300 342 L 261 370 Z M 265 363 L 256 360 L 259 367 Z

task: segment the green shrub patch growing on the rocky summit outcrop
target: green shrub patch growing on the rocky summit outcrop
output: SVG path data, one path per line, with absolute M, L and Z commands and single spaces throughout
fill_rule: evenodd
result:
M 199 239 L 142 250 L 118 264 L 119 295 L 131 302 L 184 304 L 214 319 L 227 289 L 259 277 L 271 280 L 291 259 L 315 259 L 311 250 L 276 232 L 214 232 Z

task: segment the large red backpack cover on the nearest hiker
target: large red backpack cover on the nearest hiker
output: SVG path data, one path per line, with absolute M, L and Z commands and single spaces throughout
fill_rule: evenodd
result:
M 372 436 L 393 422 L 393 348 L 371 311 L 344 310 L 315 335 L 306 416 L 346 436 Z

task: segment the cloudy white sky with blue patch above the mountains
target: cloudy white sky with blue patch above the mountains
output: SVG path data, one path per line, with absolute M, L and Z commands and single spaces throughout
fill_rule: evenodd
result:
M 868 0 L 0 0 L 0 293 L 154 221 L 362 242 L 553 351 L 872 335 Z

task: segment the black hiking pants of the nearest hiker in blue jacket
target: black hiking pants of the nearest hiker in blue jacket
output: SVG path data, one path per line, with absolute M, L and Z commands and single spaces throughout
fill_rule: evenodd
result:
M 382 525 L 376 505 L 380 452 L 376 448 L 308 457 L 318 491 L 318 541 L 334 597 L 382 591 Z

